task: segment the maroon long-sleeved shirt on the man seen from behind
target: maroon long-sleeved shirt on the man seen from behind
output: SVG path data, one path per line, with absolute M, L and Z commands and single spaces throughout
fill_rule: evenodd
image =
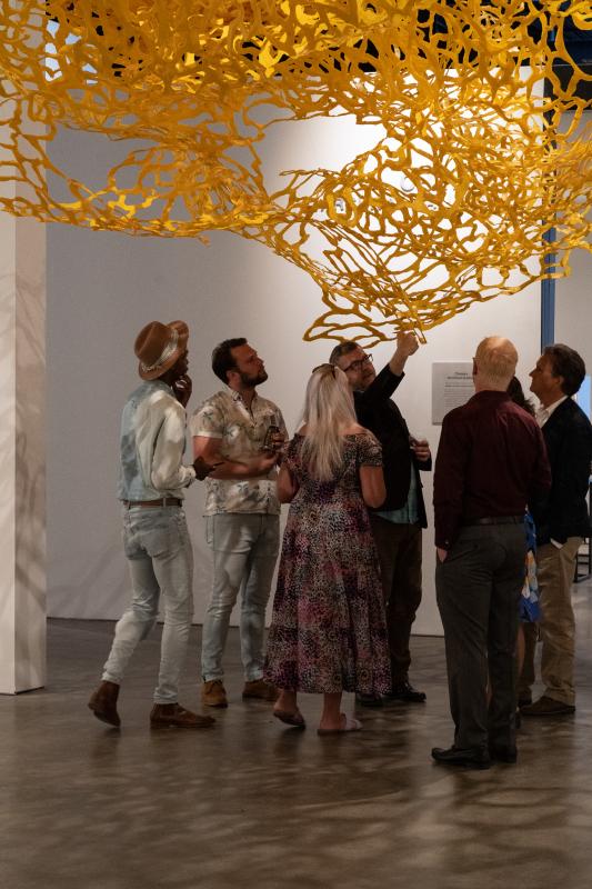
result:
M 434 471 L 435 546 L 450 549 L 461 525 L 521 516 L 551 487 L 536 421 L 506 392 L 485 390 L 444 417 Z

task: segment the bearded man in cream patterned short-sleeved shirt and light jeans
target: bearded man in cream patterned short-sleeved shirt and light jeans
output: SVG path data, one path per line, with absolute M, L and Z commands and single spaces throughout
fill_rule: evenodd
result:
M 263 633 L 280 541 L 277 463 L 287 430 L 280 409 L 257 393 L 268 374 L 245 339 L 217 346 L 212 370 L 228 389 L 207 399 L 191 418 L 195 457 L 224 461 L 208 479 L 205 498 L 213 585 L 203 623 L 202 701 L 228 707 L 222 655 L 239 591 L 242 697 L 275 699 L 275 689 L 263 680 Z

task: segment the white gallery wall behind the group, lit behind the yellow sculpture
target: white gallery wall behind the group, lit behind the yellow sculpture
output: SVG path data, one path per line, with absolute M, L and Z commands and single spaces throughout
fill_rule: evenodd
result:
M 374 141 L 375 132 L 345 119 L 281 124 L 265 158 L 277 169 L 338 168 Z M 94 171 L 101 178 L 112 151 L 106 140 L 73 132 L 62 132 L 53 147 L 58 163 L 68 167 L 64 159 L 74 159 L 70 168 L 87 181 Z M 140 328 L 153 319 L 189 323 L 190 411 L 220 388 L 210 369 L 212 347 L 228 337 L 247 337 L 269 372 L 261 393 L 282 408 L 290 431 L 310 370 L 327 360 L 333 342 L 302 341 L 320 313 L 320 292 L 312 281 L 264 247 L 225 232 L 214 232 L 205 247 L 188 239 L 49 227 L 47 293 L 49 613 L 114 619 L 129 592 L 116 500 L 119 417 L 137 384 L 133 340 Z M 431 423 L 432 362 L 470 360 L 476 342 L 492 333 L 514 340 L 519 377 L 528 388 L 528 372 L 540 351 L 539 284 L 474 306 L 428 331 L 428 342 L 410 359 L 397 400 L 412 432 L 427 436 L 434 452 L 440 427 Z M 371 351 L 380 369 L 392 347 Z M 415 631 L 440 633 L 430 475 L 424 473 L 424 483 L 430 528 Z M 211 580 L 202 502 L 198 482 L 187 496 L 198 622 Z

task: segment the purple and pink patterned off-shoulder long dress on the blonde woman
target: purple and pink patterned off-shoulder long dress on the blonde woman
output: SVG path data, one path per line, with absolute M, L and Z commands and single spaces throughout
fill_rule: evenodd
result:
M 290 442 L 285 465 L 299 483 L 283 537 L 265 678 L 304 692 L 384 695 L 390 661 L 379 561 L 359 469 L 381 466 L 368 431 L 345 436 L 343 463 L 318 481 Z

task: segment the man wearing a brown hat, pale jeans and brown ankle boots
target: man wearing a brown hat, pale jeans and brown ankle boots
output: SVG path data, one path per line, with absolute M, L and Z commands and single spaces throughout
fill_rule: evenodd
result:
M 116 627 L 99 688 L 89 707 L 102 722 L 119 727 L 119 687 L 136 646 L 154 626 L 162 595 L 160 670 L 150 713 L 152 727 L 200 729 L 211 717 L 185 710 L 178 687 L 193 615 L 193 551 L 183 512 L 183 489 L 213 466 L 182 462 L 189 330 L 183 321 L 152 321 L 138 334 L 134 351 L 143 380 L 126 402 L 121 419 L 119 499 L 132 601 Z

